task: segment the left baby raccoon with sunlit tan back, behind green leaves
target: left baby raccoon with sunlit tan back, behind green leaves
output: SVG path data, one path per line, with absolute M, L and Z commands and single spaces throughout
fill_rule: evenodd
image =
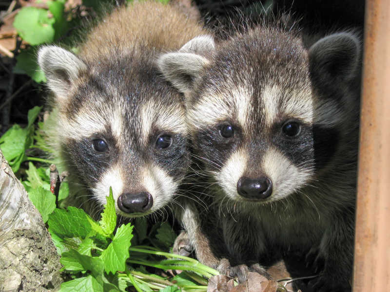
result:
M 189 163 L 187 126 L 180 94 L 155 59 L 203 33 L 175 7 L 142 1 L 103 18 L 78 55 L 39 50 L 54 93 L 47 134 L 69 171 L 74 204 L 93 215 L 110 186 L 124 217 L 162 213 L 174 200 Z

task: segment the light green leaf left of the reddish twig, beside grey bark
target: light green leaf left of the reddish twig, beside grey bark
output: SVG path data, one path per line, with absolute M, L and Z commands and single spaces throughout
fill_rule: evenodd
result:
M 56 196 L 50 191 L 38 186 L 29 189 L 28 198 L 38 209 L 42 216 L 43 223 L 46 223 L 47 219 L 49 219 L 49 214 L 56 209 Z

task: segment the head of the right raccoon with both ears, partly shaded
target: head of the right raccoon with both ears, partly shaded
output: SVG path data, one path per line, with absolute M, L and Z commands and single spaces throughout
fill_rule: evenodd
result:
M 358 64 L 353 34 L 307 50 L 265 28 L 218 46 L 196 37 L 158 60 L 185 94 L 196 154 L 223 196 L 260 203 L 299 192 L 340 155 L 340 141 L 358 124 Z

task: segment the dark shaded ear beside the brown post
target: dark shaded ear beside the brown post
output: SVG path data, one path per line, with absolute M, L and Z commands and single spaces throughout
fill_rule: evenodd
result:
M 347 32 L 323 37 L 309 49 L 312 81 L 334 86 L 356 77 L 360 62 L 360 41 Z

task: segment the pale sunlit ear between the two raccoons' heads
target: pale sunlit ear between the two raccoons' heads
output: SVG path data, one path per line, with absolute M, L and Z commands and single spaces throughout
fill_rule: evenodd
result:
M 157 66 L 164 77 L 184 94 L 191 91 L 196 77 L 210 63 L 214 54 L 214 39 L 211 36 L 195 37 L 176 53 L 161 55 Z

